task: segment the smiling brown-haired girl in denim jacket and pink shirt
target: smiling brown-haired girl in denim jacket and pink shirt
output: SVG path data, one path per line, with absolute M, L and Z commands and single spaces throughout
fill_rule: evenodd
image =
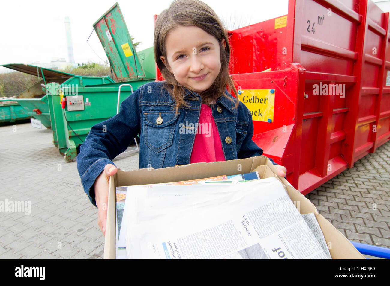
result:
M 119 114 L 91 128 L 77 156 L 81 182 L 99 209 L 103 234 L 108 180 L 117 172 L 112 159 L 125 151 L 137 134 L 140 168 L 263 153 L 252 140 L 250 111 L 236 100 L 238 94 L 229 76 L 227 33 L 208 5 L 199 0 L 176 0 L 161 12 L 154 31 L 154 55 L 165 82 L 145 84 L 126 98 Z M 286 168 L 276 167 L 284 177 Z

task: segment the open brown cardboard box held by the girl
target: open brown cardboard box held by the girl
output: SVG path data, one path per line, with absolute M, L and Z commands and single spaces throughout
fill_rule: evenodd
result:
M 133 171 L 118 170 L 110 177 L 108 193 L 107 225 L 104 246 L 104 258 L 115 259 L 116 251 L 116 216 L 115 216 L 115 189 L 119 186 L 142 184 L 156 184 L 163 182 L 187 181 L 214 177 L 218 175 L 236 175 L 258 171 L 261 179 L 271 176 L 277 177 L 284 185 L 289 197 L 295 205 L 300 206 L 301 214 L 314 212 L 325 240 L 330 247 L 333 259 L 365 259 L 365 257 L 337 230 L 329 221 L 318 213 L 316 207 L 297 191 L 284 177 L 276 174 L 275 166 L 266 156 L 257 156 L 240 160 L 229 160 L 213 163 L 195 163 L 183 166 L 161 168 L 156 170 L 139 169 Z

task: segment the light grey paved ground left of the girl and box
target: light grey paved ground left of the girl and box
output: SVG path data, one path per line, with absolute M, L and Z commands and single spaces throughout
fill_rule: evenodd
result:
M 103 258 L 97 208 L 83 191 L 76 160 L 65 162 L 51 129 L 15 126 L 0 127 L 0 201 L 31 207 L 30 214 L 0 212 L 0 259 Z M 121 154 L 114 163 L 138 169 L 138 154 Z

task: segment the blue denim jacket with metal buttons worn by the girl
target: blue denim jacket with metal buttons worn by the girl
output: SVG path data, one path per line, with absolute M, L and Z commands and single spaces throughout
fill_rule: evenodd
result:
M 233 98 L 227 89 L 225 94 Z M 96 178 L 106 164 L 115 165 L 113 158 L 124 152 L 137 134 L 140 135 L 139 168 L 190 163 L 195 132 L 183 132 L 183 126 L 195 129 L 191 126 L 199 123 L 202 100 L 188 89 L 185 99 L 188 106 L 178 109 L 176 114 L 175 100 L 163 88 L 163 82 L 149 82 L 122 102 L 119 114 L 92 126 L 77 156 L 81 182 L 92 204 L 96 205 L 91 188 Z M 241 102 L 238 109 L 234 109 L 234 104 L 220 97 L 211 105 L 225 160 L 262 155 L 263 150 L 252 140 L 254 127 L 250 111 Z

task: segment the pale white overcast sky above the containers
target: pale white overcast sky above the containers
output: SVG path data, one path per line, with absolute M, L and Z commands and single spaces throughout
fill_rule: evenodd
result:
M 172 0 L 119 0 L 129 33 L 137 50 L 153 45 L 153 15 L 167 9 Z M 288 0 L 204 0 L 220 18 L 251 25 L 287 14 Z M 65 37 L 66 16 L 71 20 L 73 53 L 76 63 L 103 63 L 106 55 L 95 32 L 88 43 L 93 23 L 115 0 L 1 0 L 0 64 L 68 61 Z

